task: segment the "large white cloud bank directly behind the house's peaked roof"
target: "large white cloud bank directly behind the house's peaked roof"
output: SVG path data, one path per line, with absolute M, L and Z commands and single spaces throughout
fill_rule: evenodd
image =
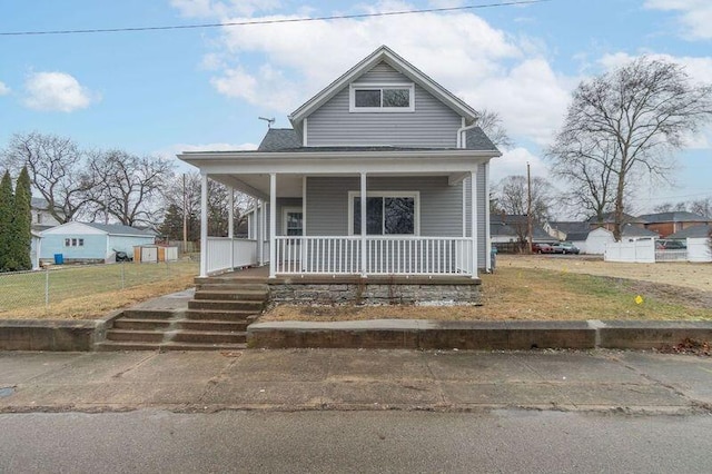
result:
M 457 2 L 442 4 L 446 3 Z M 388 1 L 356 8 L 372 13 L 413 7 Z M 301 14 L 260 17 L 294 18 Z M 389 46 L 475 109 L 500 112 L 511 135 L 538 144 L 548 140 L 558 126 L 575 86 L 573 79 L 554 73 L 541 40 L 514 38 L 472 12 L 225 28 L 219 45 L 202 62 L 215 71 L 212 87 L 227 97 L 268 108 L 266 112 L 283 115 L 380 45 Z

